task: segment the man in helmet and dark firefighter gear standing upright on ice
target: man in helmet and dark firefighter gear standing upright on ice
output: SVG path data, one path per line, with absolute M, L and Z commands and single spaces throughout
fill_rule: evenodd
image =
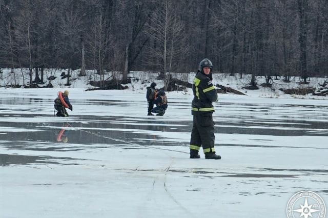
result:
M 190 158 L 200 158 L 200 146 L 206 159 L 221 159 L 214 149 L 214 122 L 212 102 L 218 101 L 215 86 L 212 84 L 212 62 L 205 58 L 199 63 L 199 69 L 193 82 L 194 99 L 191 114 L 193 129 L 190 139 Z

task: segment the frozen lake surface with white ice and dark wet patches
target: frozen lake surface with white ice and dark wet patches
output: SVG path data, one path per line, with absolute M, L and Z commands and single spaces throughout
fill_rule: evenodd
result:
M 2 218 L 286 217 L 303 190 L 328 206 L 327 101 L 220 95 L 222 160 L 190 160 L 190 93 L 150 117 L 145 93 L 70 89 L 65 118 L 57 91 L 0 89 Z

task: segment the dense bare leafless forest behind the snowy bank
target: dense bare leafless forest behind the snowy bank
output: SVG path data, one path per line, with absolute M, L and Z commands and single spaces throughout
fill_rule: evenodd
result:
M 0 67 L 326 76 L 326 0 L 0 0 Z M 104 78 L 103 78 L 104 79 Z M 254 82 L 254 81 L 252 81 Z

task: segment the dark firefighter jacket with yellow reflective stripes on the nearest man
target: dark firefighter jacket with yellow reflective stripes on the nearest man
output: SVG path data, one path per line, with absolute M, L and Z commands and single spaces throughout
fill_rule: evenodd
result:
M 215 86 L 212 84 L 212 72 L 209 75 L 205 75 L 199 71 L 197 72 L 193 82 L 193 93 L 192 115 L 214 112 L 212 102 L 217 102 L 218 96 Z

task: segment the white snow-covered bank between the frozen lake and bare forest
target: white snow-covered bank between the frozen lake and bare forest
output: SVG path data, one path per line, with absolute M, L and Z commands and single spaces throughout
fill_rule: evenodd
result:
M 2 69 L 3 71 L 3 79 L 0 80 L 0 89 L 1 87 L 4 88 L 8 85 L 14 84 L 14 77 L 13 74 L 10 73 L 10 69 Z M 71 78 L 70 78 L 70 86 L 66 86 L 67 78 L 61 79 L 60 74 L 66 73 L 67 69 L 60 70 L 60 69 L 46 69 L 44 74 L 44 82 L 43 85 L 38 85 L 40 87 L 46 86 L 49 84 L 49 81 L 47 80 L 50 76 L 55 76 L 56 78 L 51 81 L 51 84 L 54 88 L 57 88 L 58 90 L 61 89 L 69 89 L 69 88 L 80 88 L 80 89 L 89 89 L 89 88 L 95 88 L 91 86 L 89 83 L 90 81 L 99 81 L 99 75 L 95 73 L 95 71 L 87 71 L 87 76 L 78 76 L 79 70 L 71 71 Z M 28 69 L 16 69 L 16 84 L 23 85 L 23 76 L 25 75 L 25 83 L 29 83 L 29 75 L 28 75 Z M 192 83 L 194 73 L 174 73 L 173 77 L 178 78 L 182 81 L 188 81 Z M 116 78 L 120 77 L 120 74 L 117 72 L 106 72 L 105 79 L 113 76 Z M 127 84 L 124 86 L 128 86 L 129 90 L 135 92 L 135 93 L 144 93 L 147 86 L 150 85 L 151 82 L 156 82 L 158 84 L 158 87 L 163 87 L 163 81 L 156 80 L 156 77 L 158 76 L 158 73 L 151 73 L 151 72 L 141 72 L 141 71 L 135 71 L 131 72 L 130 75 L 132 77 L 132 83 Z M 34 78 L 34 77 L 33 77 Z M 251 75 L 243 75 L 242 78 L 240 78 L 239 74 L 236 74 L 234 76 L 230 76 L 228 74 L 213 74 L 213 83 L 219 84 L 227 87 L 231 87 L 233 89 L 239 90 L 243 92 L 244 94 L 247 94 L 251 97 L 264 97 L 264 98 L 298 98 L 298 99 L 319 99 L 319 100 L 328 100 L 328 96 L 315 96 L 312 94 L 307 95 L 295 95 L 295 94 L 285 94 L 279 89 L 299 89 L 299 88 L 315 88 L 318 89 L 320 86 L 319 84 L 323 84 L 323 82 L 327 80 L 327 78 L 317 78 L 312 77 L 310 78 L 309 84 L 300 84 L 300 78 L 297 76 L 291 77 L 290 83 L 283 82 L 283 77 L 278 77 L 278 80 L 273 80 L 273 85 L 271 88 L 264 88 L 260 86 L 260 84 L 265 83 L 265 77 L 264 76 L 257 76 L 256 82 L 258 84 L 259 89 L 258 90 L 247 90 L 243 87 L 248 86 L 248 84 L 251 81 Z M 191 89 L 188 89 L 189 93 L 191 92 Z

